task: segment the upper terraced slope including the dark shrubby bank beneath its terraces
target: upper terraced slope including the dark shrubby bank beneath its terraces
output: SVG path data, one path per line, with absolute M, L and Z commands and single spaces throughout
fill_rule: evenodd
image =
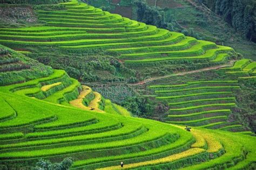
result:
M 84 82 L 143 79 L 237 57 L 231 47 L 158 29 L 75 0 L 59 5 L 65 10 L 42 6 L 35 10 L 42 26 L 1 28 L 0 43 L 30 51 L 29 57 L 65 69 Z M 219 59 L 220 54 L 225 57 Z

